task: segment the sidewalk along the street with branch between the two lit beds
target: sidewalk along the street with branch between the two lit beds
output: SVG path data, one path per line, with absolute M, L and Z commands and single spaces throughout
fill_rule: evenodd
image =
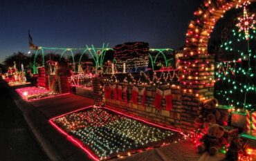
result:
M 22 111 L 30 131 L 35 135 L 35 138 L 50 160 L 90 160 L 84 151 L 71 142 L 68 142 L 64 135 L 57 132 L 51 124 L 48 124 L 48 119 L 77 108 L 93 105 L 92 99 L 68 94 L 37 100 L 35 102 L 26 102 L 16 93 L 15 88 L 17 87 L 9 88 L 10 95 L 12 95 L 12 99 Z

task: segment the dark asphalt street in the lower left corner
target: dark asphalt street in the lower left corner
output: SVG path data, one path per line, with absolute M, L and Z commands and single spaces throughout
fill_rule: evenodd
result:
M 21 111 L 8 94 L 8 89 L 3 86 L 3 82 L 0 82 L 0 95 L 0 160 L 48 160 L 28 130 Z

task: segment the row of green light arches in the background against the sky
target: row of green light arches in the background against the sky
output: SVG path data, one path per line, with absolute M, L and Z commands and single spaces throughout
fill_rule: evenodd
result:
M 76 72 L 77 70 L 79 70 L 80 66 L 83 64 L 82 62 L 82 57 L 84 55 L 89 55 L 89 57 L 91 57 L 93 59 L 93 64 L 95 65 L 95 69 L 98 68 L 103 68 L 104 66 L 104 58 L 106 56 L 106 53 L 108 50 L 113 50 L 112 48 L 109 48 L 109 45 L 102 45 L 102 48 L 95 48 L 93 45 L 88 46 L 86 45 L 84 48 L 52 48 L 52 47 L 44 47 L 44 46 L 38 46 L 37 48 L 35 48 L 35 57 L 34 57 L 34 62 L 33 62 L 33 73 L 37 73 L 37 63 L 36 63 L 36 59 L 37 56 L 39 55 L 39 53 L 42 54 L 42 65 L 44 65 L 44 55 L 47 51 L 52 51 L 55 50 L 57 52 L 60 52 L 61 54 L 61 58 L 64 57 L 65 54 L 71 55 L 72 57 L 72 68 L 73 71 Z M 158 64 L 158 59 L 160 57 L 163 57 L 163 66 L 168 66 L 168 64 L 170 63 L 170 61 L 172 61 L 172 58 L 168 58 L 167 55 L 165 54 L 166 52 L 168 53 L 172 53 L 173 49 L 172 48 L 149 48 L 147 51 L 147 55 L 145 55 L 146 59 L 143 59 L 143 61 L 147 61 L 147 63 L 144 63 L 144 67 L 146 66 L 145 64 L 150 63 L 150 65 L 152 66 L 152 70 L 154 70 L 154 66 L 156 66 L 156 64 Z M 75 62 L 74 59 L 74 52 L 81 52 L 81 56 L 78 62 Z M 126 51 L 127 52 L 127 51 Z M 137 51 L 136 51 L 137 52 Z M 141 50 L 141 52 L 143 52 Z M 149 53 L 150 52 L 150 53 Z M 172 55 L 172 54 L 171 54 Z M 135 55 L 133 55 L 132 57 L 134 57 Z M 117 62 L 117 64 L 116 64 Z M 113 63 L 115 63 L 117 66 L 120 67 L 120 72 L 123 72 L 123 68 L 125 66 L 126 70 L 127 65 L 125 63 L 122 63 L 122 65 L 118 65 L 119 61 L 116 61 L 116 59 L 113 60 Z M 77 66 L 76 66 L 77 64 Z M 77 69 L 78 68 L 78 69 Z M 119 70 L 118 70 L 119 71 Z M 138 70 L 139 71 L 139 70 Z M 97 70 L 96 70 L 97 72 Z

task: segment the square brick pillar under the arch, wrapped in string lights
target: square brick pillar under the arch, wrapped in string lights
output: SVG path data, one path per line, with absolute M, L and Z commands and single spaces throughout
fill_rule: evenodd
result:
M 199 103 L 214 97 L 214 55 L 181 57 L 179 60 L 181 78 L 181 104 L 185 113 L 183 120 L 194 122 L 198 116 Z

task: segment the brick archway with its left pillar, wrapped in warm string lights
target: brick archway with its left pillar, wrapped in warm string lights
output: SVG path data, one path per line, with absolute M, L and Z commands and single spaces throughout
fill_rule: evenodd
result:
M 182 105 L 191 120 L 199 102 L 214 97 L 214 55 L 208 54 L 208 41 L 217 21 L 226 11 L 248 0 L 204 0 L 188 26 L 184 55 L 179 60 Z M 249 0 L 253 2 L 255 0 Z

